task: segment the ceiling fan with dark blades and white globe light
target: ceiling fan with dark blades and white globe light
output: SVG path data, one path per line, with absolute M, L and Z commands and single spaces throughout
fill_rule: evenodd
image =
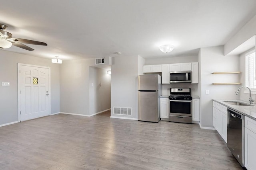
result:
M 12 34 L 4 31 L 7 26 L 0 23 L 0 49 L 7 49 L 10 48 L 12 45 L 16 47 L 20 47 L 22 49 L 33 51 L 34 49 L 22 44 L 34 44 L 34 45 L 46 45 L 46 43 L 40 42 L 40 41 L 33 41 L 29 39 L 22 39 L 22 38 L 12 38 Z

